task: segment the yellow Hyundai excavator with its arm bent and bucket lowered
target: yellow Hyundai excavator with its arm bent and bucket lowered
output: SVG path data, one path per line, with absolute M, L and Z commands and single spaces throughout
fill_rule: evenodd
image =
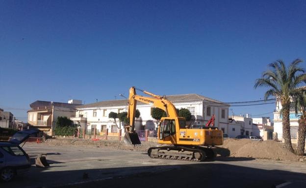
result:
M 136 94 L 136 89 L 149 95 L 141 96 Z M 210 127 L 214 122 L 214 116 L 201 128 L 189 128 L 185 118 L 178 117 L 176 107 L 165 97 L 152 94 L 148 91 L 131 87 L 129 89 L 128 120 L 124 142 L 132 145 L 140 145 L 138 134 L 135 132 L 135 113 L 137 101 L 151 104 L 164 110 L 167 117 L 162 117 L 157 132 L 158 143 L 161 146 L 150 147 L 148 155 L 151 158 L 205 161 L 212 160 L 215 153 L 213 146 L 223 144 L 223 132 L 218 128 Z M 214 124 L 214 123 L 213 123 Z

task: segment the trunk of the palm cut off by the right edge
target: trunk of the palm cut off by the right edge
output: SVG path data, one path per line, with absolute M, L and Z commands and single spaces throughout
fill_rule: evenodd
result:
M 298 138 L 298 146 L 297 146 L 297 155 L 304 156 L 305 137 L 306 137 L 306 111 L 303 112 L 299 120 L 298 133 L 299 133 L 299 138 Z

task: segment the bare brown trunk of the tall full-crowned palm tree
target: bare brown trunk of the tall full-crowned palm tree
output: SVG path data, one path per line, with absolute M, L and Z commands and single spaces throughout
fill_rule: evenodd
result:
M 284 103 L 282 103 L 284 104 Z M 290 107 L 289 105 L 283 105 L 282 107 L 282 139 L 284 139 L 285 147 L 289 149 L 289 151 L 294 152 L 291 144 L 291 136 L 290 136 Z

